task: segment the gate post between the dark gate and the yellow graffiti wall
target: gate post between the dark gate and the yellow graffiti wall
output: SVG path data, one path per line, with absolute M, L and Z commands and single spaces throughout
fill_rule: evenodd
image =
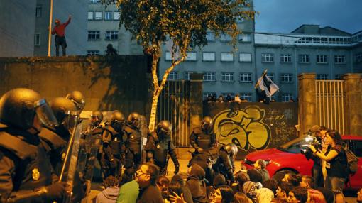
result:
M 190 73 L 190 132 L 202 121 L 202 73 Z

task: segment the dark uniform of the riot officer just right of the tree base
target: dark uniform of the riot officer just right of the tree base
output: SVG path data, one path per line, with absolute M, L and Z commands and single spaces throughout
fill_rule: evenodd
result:
M 178 163 L 175 146 L 173 146 L 170 136 L 158 136 L 155 132 L 149 133 L 145 150 L 147 161 L 155 163 L 155 165 L 160 167 L 160 175 L 165 175 L 167 172 L 168 154 L 175 165 L 176 173 L 178 172 L 180 164 Z

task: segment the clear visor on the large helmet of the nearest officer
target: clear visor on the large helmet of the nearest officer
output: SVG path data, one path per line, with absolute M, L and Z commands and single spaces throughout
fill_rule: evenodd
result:
M 57 119 L 55 118 L 52 109 L 50 109 L 45 99 L 35 101 L 34 106 L 35 112 L 43 126 L 58 126 Z

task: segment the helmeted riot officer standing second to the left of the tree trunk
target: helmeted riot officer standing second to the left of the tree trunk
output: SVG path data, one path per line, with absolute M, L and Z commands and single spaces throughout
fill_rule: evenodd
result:
M 111 121 L 104 127 L 102 141 L 103 154 L 101 158 L 104 176 L 121 176 L 121 163 L 124 161 L 124 124 L 126 119 L 120 111 L 113 111 Z

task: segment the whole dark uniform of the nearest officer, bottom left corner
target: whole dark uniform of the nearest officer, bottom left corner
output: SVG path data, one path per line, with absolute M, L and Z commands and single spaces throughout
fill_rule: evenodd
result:
M 38 136 L 0 123 L 0 194 L 2 201 L 43 202 L 35 191 L 57 181 Z M 35 196 L 35 197 L 34 197 Z M 26 197 L 29 197 L 28 199 Z M 25 200 L 27 199 L 27 200 Z

